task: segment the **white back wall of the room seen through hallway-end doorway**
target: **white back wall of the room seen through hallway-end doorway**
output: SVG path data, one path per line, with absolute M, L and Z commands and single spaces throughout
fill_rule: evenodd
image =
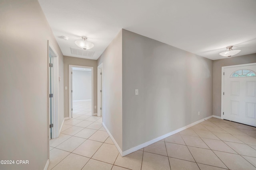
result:
M 92 99 L 92 72 L 73 70 L 73 101 Z

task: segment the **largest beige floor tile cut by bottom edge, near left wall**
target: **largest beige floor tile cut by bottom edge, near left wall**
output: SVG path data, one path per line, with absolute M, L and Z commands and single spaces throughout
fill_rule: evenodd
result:
M 90 158 L 77 154 L 69 154 L 52 170 L 81 170 Z

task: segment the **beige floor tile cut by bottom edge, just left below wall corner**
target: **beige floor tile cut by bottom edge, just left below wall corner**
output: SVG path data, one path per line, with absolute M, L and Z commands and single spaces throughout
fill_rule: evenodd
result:
M 90 159 L 82 170 L 111 170 L 112 164 Z

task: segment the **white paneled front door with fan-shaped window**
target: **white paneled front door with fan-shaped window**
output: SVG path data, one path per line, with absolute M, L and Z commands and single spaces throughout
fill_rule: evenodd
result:
M 223 115 L 256 126 L 256 64 L 224 68 Z

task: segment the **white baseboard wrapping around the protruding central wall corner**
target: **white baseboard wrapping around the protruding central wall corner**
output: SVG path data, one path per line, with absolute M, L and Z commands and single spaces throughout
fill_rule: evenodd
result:
M 210 119 L 210 118 L 212 118 L 212 117 L 213 117 L 213 115 L 211 115 L 211 116 L 209 116 L 209 117 L 206 117 L 206 118 L 204 118 L 204 119 L 201 119 L 201 120 L 199 120 L 199 121 L 196 121 L 196 122 L 194 122 L 194 123 L 191 123 L 191 124 L 189 124 L 189 125 L 186 125 L 186 126 L 180 128 L 180 129 L 177 129 L 177 130 L 175 130 L 175 131 L 172 131 L 172 132 L 170 132 L 170 133 L 167 133 L 167 134 L 165 134 L 165 135 L 162 135 L 162 136 L 160 136 L 160 137 L 157 137 L 157 138 L 155 138 L 155 139 L 152 139 L 151 141 L 148 141 L 148 142 L 146 142 L 146 143 L 142 143 L 142 144 L 140 144 L 140 145 L 138 145 L 138 146 L 136 146 L 136 147 L 133 147 L 133 148 L 128 149 L 128 150 L 125 150 L 125 151 L 122 151 L 122 150 L 120 149 L 120 147 L 119 147 L 118 144 L 116 143 L 116 141 L 115 141 L 115 139 L 113 138 L 113 136 L 111 135 L 111 133 L 108 131 L 108 128 L 105 126 L 105 124 L 102 123 L 102 125 L 105 127 L 105 129 L 106 129 L 108 135 L 110 136 L 110 138 L 112 139 L 112 141 L 113 141 L 114 144 L 116 145 L 116 148 L 118 149 L 120 155 L 121 155 L 121 156 L 125 156 L 125 155 L 128 155 L 128 154 L 132 153 L 132 152 L 135 152 L 136 150 L 142 149 L 142 148 L 147 147 L 147 146 L 149 146 L 149 145 L 151 145 L 151 144 L 153 144 L 153 143 L 156 143 L 156 142 L 158 142 L 158 141 L 160 141 L 160 140 L 162 140 L 162 139 L 164 139 L 164 138 L 166 138 L 166 137 L 169 137 L 169 136 L 171 136 L 171 135 L 174 135 L 175 133 L 178 133 L 178 132 L 183 131 L 183 130 L 189 128 L 189 127 L 192 127 L 192 126 L 194 126 L 194 125 L 196 125 L 196 124 L 198 124 L 198 123 L 201 123 L 202 121 L 205 121 L 205 120 L 207 120 L 207 119 Z

